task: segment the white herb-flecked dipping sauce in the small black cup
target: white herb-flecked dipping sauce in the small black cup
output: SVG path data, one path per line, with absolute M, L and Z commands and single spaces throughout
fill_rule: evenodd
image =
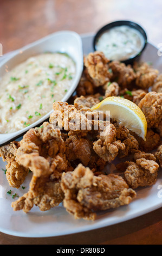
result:
M 143 48 L 145 40 L 136 29 L 118 26 L 101 34 L 96 42 L 96 50 L 110 60 L 126 60 L 136 56 Z

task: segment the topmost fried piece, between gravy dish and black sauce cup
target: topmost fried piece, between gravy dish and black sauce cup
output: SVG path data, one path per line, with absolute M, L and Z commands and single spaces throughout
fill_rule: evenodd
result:
M 84 58 L 85 75 L 88 80 L 92 81 L 95 87 L 103 86 L 112 77 L 108 69 L 109 60 L 102 52 L 95 51 L 89 53 Z

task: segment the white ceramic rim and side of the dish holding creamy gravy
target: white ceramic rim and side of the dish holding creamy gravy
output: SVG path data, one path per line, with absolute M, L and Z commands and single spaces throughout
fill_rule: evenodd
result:
M 8 70 L 13 69 L 16 65 L 24 62 L 31 56 L 35 56 L 37 54 L 43 52 L 66 52 L 75 62 L 76 64 L 76 75 L 72 86 L 68 90 L 67 94 L 63 97 L 61 101 L 67 101 L 69 97 L 73 94 L 77 84 L 80 81 L 80 77 L 82 75 L 83 70 L 83 50 L 82 50 L 82 40 L 79 34 L 72 31 L 60 31 L 54 34 L 50 34 L 45 38 L 42 38 L 38 41 L 35 41 L 23 48 L 15 51 L 12 57 L 7 60 L 3 60 L 0 63 L 0 77 L 5 74 L 5 66 L 8 66 Z M 31 124 L 28 127 L 20 131 L 16 131 L 8 134 L 0 134 L 0 146 L 22 136 L 25 132 L 27 132 L 30 128 L 40 125 L 43 121 L 49 118 L 51 111 L 44 115 L 44 117 L 37 120 L 35 123 Z

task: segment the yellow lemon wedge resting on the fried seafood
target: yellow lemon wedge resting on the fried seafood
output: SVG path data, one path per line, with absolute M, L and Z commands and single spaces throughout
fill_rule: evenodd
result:
M 141 109 L 130 100 L 122 97 L 107 97 L 91 108 L 97 111 L 110 111 L 110 117 L 116 119 L 129 130 L 137 133 L 146 141 L 147 121 Z

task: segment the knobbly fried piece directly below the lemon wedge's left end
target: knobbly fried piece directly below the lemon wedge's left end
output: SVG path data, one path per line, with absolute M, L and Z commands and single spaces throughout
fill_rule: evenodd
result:
M 93 149 L 103 160 L 111 162 L 118 155 L 119 150 L 125 150 L 125 144 L 116 141 L 116 129 L 109 124 L 103 134 L 93 143 Z

